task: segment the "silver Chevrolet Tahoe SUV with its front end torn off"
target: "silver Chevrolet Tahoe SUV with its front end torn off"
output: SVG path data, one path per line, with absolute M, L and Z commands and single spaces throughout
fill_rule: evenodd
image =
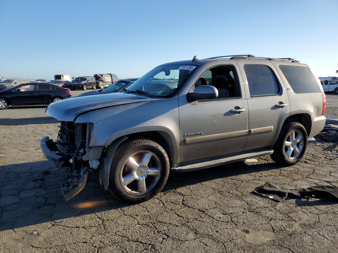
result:
M 325 94 L 310 67 L 253 55 L 177 61 L 155 67 L 120 93 L 52 103 L 61 121 L 47 159 L 70 175 L 66 199 L 99 171 L 125 202 L 158 194 L 169 171 L 191 171 L 270 155 L 284 166 L 304 155 L 324 126 Z

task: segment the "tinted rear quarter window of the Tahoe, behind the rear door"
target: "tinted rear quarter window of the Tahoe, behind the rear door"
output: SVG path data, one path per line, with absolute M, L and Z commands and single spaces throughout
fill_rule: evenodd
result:
M 290 65 L 279 65 L 279 68 L 295 93 L 321 92 L 310 68 Z

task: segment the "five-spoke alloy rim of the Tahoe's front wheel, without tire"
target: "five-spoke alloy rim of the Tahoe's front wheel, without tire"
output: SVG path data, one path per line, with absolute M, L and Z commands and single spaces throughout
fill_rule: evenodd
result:
M 161 162 L 155 153 L 148 150 L 137 151 L 123 163 L 120 181 L 123 188 L 131 194 L 141 195 L 149 192 L 161 176 Z

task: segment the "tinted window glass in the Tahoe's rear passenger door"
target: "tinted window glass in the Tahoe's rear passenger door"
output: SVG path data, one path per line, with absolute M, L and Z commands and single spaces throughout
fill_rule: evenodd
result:
M 244 65 L 250 96 L 279 94 L 280 88 L 272 70 L 265 65 Z

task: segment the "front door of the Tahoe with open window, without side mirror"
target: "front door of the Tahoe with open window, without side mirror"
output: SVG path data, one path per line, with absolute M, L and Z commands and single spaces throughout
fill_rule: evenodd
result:
M 219 95 L 196 103 L 179 96 L 181 162 L 240 152 L 247 141 L 248 104 L 235 66 L 208 69 L 201 78 L 204 85 L 216 87 Z M 228 92 L 230 89 L 234 92 Z M 235 108 L 242 111 L 232 112 Z

